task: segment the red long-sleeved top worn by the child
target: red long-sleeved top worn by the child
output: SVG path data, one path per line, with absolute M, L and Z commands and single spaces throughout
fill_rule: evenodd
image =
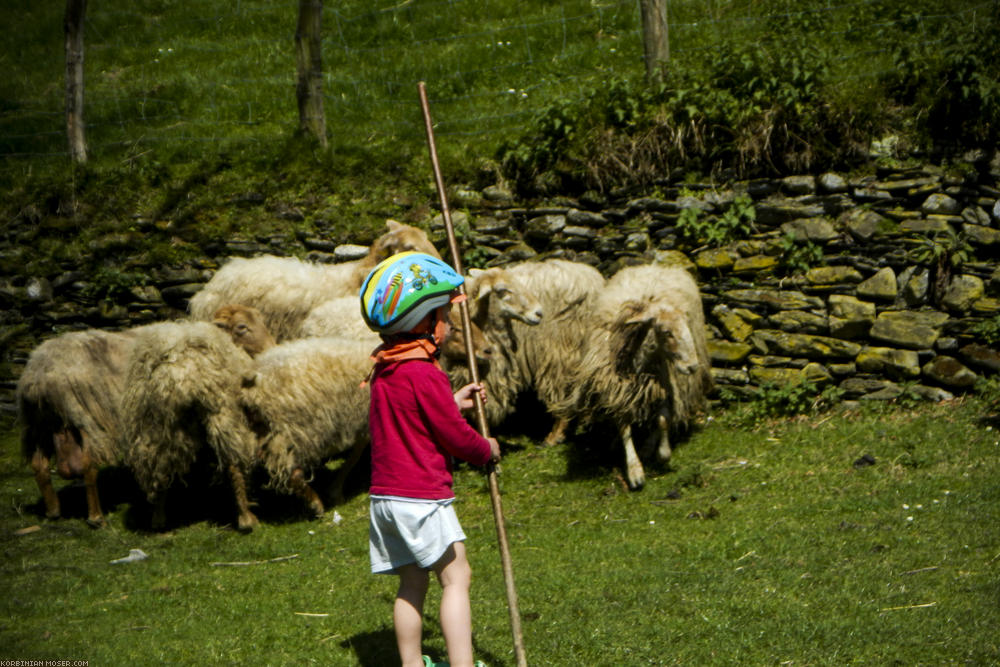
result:
M 452 457 L 490 459 L 490 443 L 462 417 L 448 376 L 430 361 L 379 365 L 371 381 L 372 495 L 454 497 Z

